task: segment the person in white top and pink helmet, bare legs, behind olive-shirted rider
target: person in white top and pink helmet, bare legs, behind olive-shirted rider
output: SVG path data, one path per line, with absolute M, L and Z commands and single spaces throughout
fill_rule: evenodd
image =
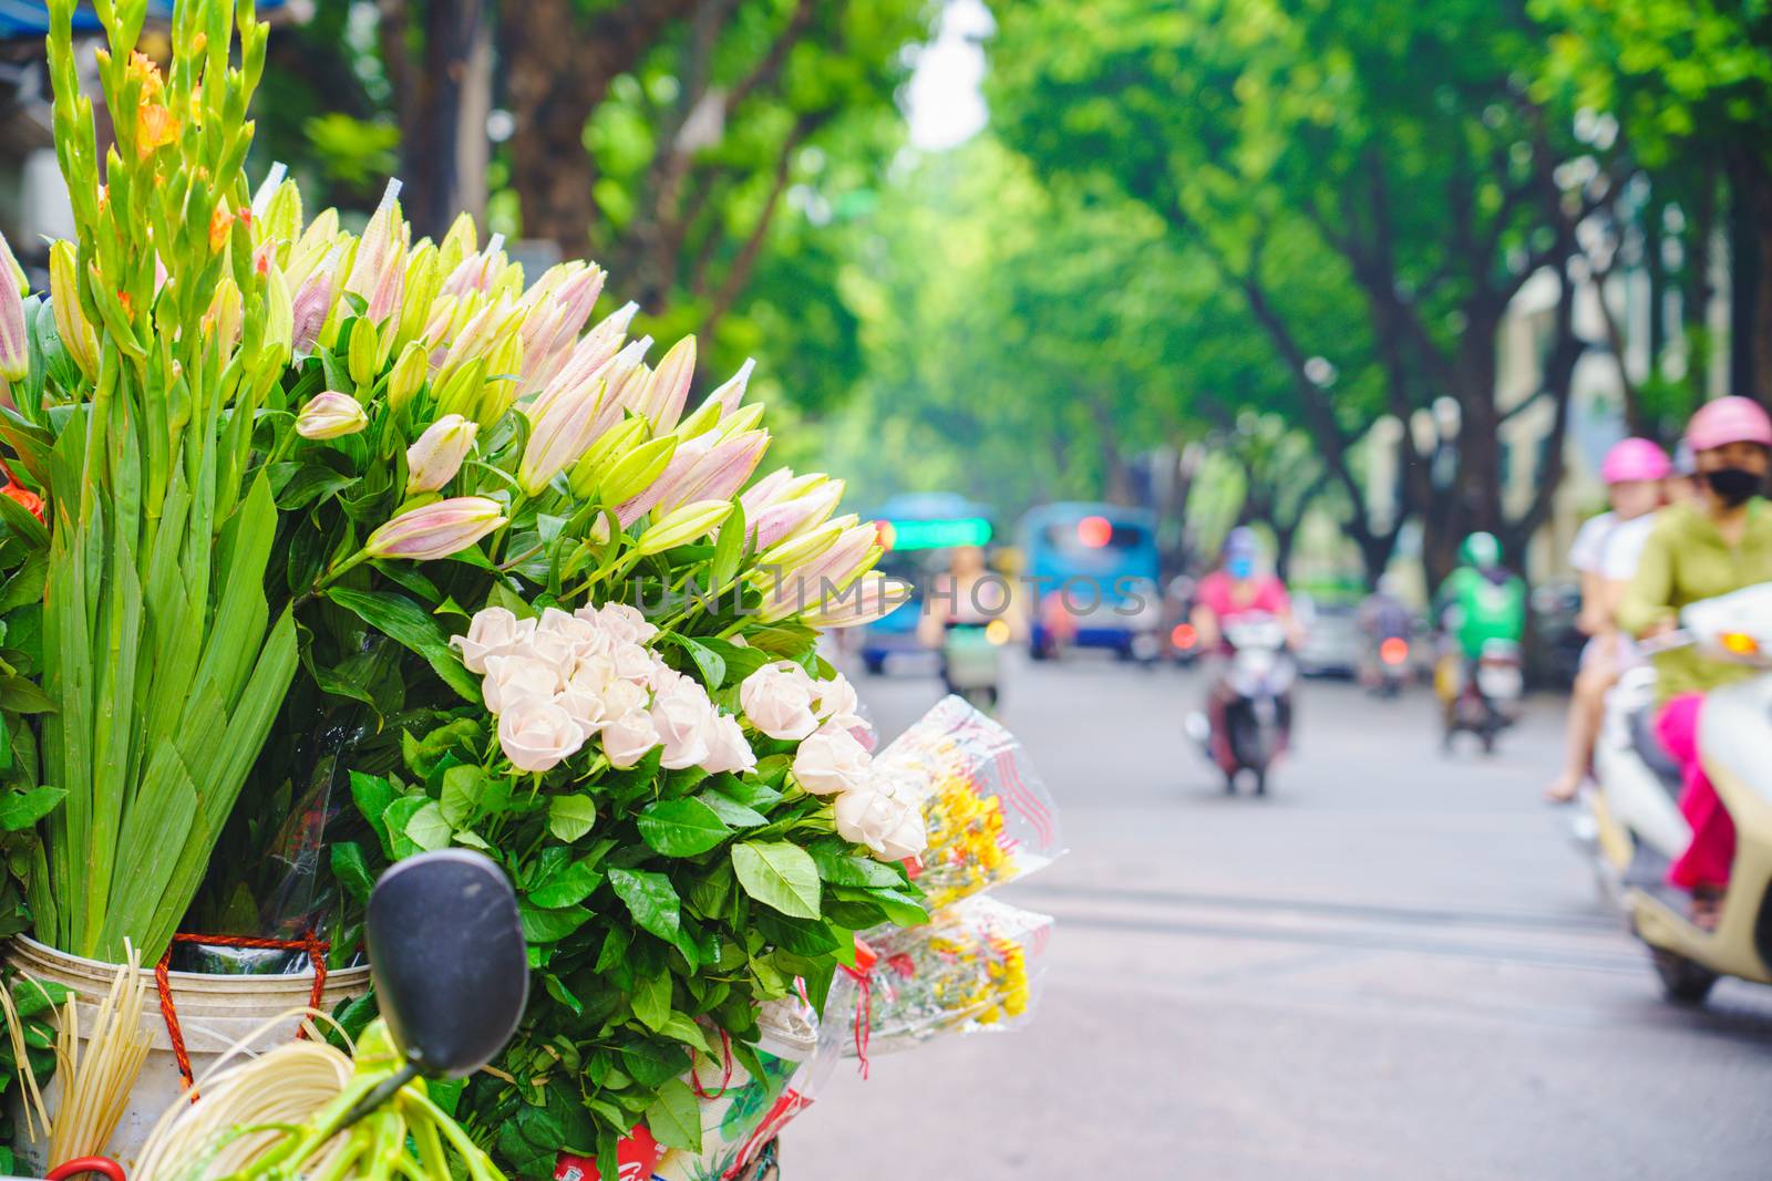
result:
M 1605 691 L 1636 662 L 1630 639 L 1618 632 L 1614 620 L 1614 579 L 1630 579 L 1648 529 L 1653 528 L 1655 510 L 1662 506 L 1662 483 L 1671 473 L 1667 453 L 1648 439 L 1625 439 L 1613 446 L 1600 464 L 1613 508 L 1582 524 L 1570 547 L 1568 561 L 1581 575 L 1581 614 L 1575 627 L 1588 636 L 1588 645 L 1582 648 L 1581 673 L 1568 703 L 1563 770 L 1545 788 L 1545 799 L 1554 804 L 1574 800 L 1581 790 L 1593 763 Z M 1616 574 L 1620 567 L 1623 574 Z

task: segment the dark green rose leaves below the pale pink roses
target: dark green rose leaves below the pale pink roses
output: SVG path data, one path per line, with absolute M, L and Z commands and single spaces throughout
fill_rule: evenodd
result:
M 812 637 L 799 643 L 783 655 L 810 659 Z M 684 669 L 719 691 L 707 666 Z M 335 873 L 360 892 L 390 850 L 457 845 L 510 875 L 539 988 L 500 1073 L 470 1082 L 464 1107 L 519 1176 L 641 1119 L 695 1149 L 691 1055 L 721 1055 L 721 1030 L 744 1054 L 757 1006 L 796 977 L 822 995 L 854 930 L 925 917 L 904 868 L 836 838 L 829 804 L 792 784 L 785 756 L 705 779 L 663 768 L 656 751 L 613 770 L 587 749 L 525 776 L 496 756 L 480 710 L 413 724 L 404 774 L 353 776 L 386 845 L 335 846 Z

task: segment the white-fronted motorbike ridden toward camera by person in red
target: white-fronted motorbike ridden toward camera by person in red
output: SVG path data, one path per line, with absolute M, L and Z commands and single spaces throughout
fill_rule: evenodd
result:
M 1267 793 L 1267 774 L 1292 738 L 1292 683 L 1297 664 L 1286 648 L 1286 629 L 1269 614 L 1251 614 L 1224 623 L 1230 655 L 1214 694 L 1224 699 L 1224 733 L 1212 731 L 1203 715 L 1191 719 L 1207 758 L 1224 774 L 1224 790 L 1249 774 L 1255 793 Z

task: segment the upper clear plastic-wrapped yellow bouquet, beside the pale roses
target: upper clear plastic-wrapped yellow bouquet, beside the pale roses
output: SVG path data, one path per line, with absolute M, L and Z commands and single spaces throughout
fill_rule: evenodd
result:
M 929 850 L 913 866 L 929 910 L 1014 882 L 1065 852 L 1058 811 L 1026 749 L 962 698 L 943 698 L 875 767 L 923 800 Z

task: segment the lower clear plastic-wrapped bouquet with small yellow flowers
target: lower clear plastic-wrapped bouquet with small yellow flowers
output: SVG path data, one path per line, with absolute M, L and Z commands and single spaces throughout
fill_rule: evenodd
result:
M 1051 931 L 1049 915 L 969 898 L 925 926 L 874 938 L 870 970 L 849 977 L 828 1009 L 852 1030 L 843 1054 L 888 1054 L 944 1034 L 1021 1025 L 1044 983 Z

